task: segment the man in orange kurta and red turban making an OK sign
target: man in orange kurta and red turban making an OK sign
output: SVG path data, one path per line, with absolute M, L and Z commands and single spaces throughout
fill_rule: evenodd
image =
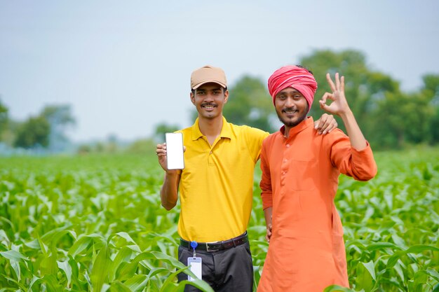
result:
M 344 77 L 329 74 L 332 93 L 320 107 L 340 116 L 339 129 L 327 135 L 313 131 L 306 118 L 317 83 L 303 67 L 287 66 L 269 78 L 269 91 L 281 130 L 262 144 L 261 189 L 269 250 L 257 291 L 321 292 L 327 286 L 349 286 L 342 223 L 334 204 L 339 174 L 359 181 L 377 173 L 370 145 L 344 97 Z M 326 100 L 332 103 L 327 105 Z

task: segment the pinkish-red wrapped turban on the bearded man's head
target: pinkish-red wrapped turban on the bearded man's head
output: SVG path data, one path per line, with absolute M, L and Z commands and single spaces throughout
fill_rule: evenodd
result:
M 273 104 L 276 95 L 285 88 L 299 90 L 308 102 L 308 111 L 311 109 L 317 90 L 317 82 L 313 74 L 297 66 L 284 66 L 277 69 L 269 78 L 269 92 L 273 97 Z

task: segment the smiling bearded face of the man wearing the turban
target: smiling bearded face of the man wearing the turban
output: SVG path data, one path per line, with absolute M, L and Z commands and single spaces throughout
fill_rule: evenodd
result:
M 285 125 L 285 132 L 298 125 L 306 118 L 308 102 L 295 88 L 285 88 L 278 92 L 275 99 L 276 113 L 279 120 Z

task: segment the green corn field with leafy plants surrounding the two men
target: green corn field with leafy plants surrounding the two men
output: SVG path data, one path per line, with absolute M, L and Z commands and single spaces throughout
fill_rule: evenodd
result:
M 372 181 L 340 176 L 351 288 L 325 291 L 439 291 L 439 148 L 375 158 Z M 259 178 L 257 168 L 248 228 L 255 289 L 268 249 Z M 183 291 L 179 206 L 161 207 L 162 179 L 154 150 L 0 158 L 0 292 Z

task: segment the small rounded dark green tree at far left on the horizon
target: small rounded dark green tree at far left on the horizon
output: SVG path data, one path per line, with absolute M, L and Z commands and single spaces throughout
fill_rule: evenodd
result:
M 31 117 L 18 128 L 14 146 L 21 148 L 47 147 L 49 144 L 50 124 L 43 116 Z

